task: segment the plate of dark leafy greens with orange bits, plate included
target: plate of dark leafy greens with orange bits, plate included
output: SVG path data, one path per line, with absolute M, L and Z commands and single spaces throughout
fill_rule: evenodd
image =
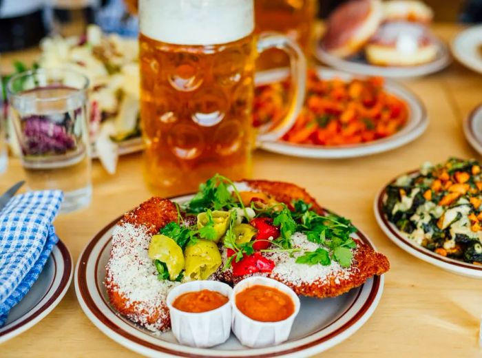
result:
M 449 158 L 399 176 L 375 198 L 379 226 L 420 260 L 482 279 L 481 168 L 477 160 Z

